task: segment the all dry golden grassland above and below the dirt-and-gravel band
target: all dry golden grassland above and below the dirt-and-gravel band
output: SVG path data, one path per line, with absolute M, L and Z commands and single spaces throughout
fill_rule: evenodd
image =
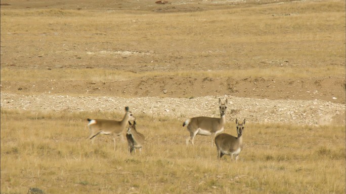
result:
M 128 2 L 145 9 L 123 2 L 120 10 L 102 11 L 2 6 L 2 92 L 11 92 L 5 81 L 345 77 L 344 1 L 249 1 L 210 10 Z M 86 118 L 121 116 L 2 108 L 1 193 L 345 193 L 344 124 L 247 121 L 238 162 L 218 161 L 209 136 L 186 146 L 188 132 L 174 117 L 135 115 L 146 136 L 141 155 L 129 155 L 120 141 L 113 151 L 108 136 L 85 140 Z M 226 132 L 235 135 L 235 123 L 227 122 Z

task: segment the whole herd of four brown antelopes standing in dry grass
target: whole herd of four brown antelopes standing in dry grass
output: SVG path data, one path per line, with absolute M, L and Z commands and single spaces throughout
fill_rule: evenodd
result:
M 185 120 L 183 126 L 187 125 L 187 131 L 190 133 L 190 136 L 186 139 L 186 144 L 188 145 L 191 143 L 193 145 L 196 135 L 211 136 L 211 146 L 213 146 L 213 144 L 216 145 L 219 159 L 221 159 L 223 155 L 229 155 L 231 156 L 231 160 L 233 160 L 233 158 L 238 160 L 239 153 L 243 148 L 242 134 L 244 131 L 245 119 L 241 123 L 236 119 L 237 137 L 222 133 L 226 123 L 227 102 L 227 99 L 225 102 L 222 102 L 219 98 L 220 118 L 199 116 Z M 129 153 L 135 153 L 136 149 L 139 149 L 141 153 L 145 136 L 137 132 L 135 120 L 136 118 L 133 113 L 129 111 L 128 106 L 125 107 L 125 115 L 121 121 L 88 118 L 88 127 L 90 131 L 88 139 L 92 140 L 93 143 L 93 138 L 99 134 L 110 135 L 113 137 L 115 150 L 115 138 L 116 136 L 120 136 L 121 140 L 124 141 L 123 134 L 128 123 L 129 127 L 126 131 L 128 151 Z M 131 123 L 131 121 L 133 121 L 133 123 Z

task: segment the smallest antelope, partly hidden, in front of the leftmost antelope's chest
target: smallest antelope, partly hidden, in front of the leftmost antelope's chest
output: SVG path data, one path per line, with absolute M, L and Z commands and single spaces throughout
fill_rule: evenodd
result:
M 126 133 L 128 151 L 129 153 L 132 153 L 132 152 L 136 152 L 136 149 L 139 149 L 141 153 L 145 137 L 143 134 L 137 132 L 136 121 L 134 121 L 133 124 L 130 121 L 128 121 L 128 124 L 129 124 L 129 127 Z

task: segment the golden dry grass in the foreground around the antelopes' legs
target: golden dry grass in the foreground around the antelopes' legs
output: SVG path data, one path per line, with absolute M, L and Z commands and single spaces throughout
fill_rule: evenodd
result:
M 126 143 L 85 140 L 86 117 L 109 112 L 1 111 L 1 192 L 344 193 L 345 127 L 247 123 L 238 162 L 217 160 L 210 137 L 188 135 L 175 118 L 136 115 L 142 155 Z M 115 113 L 115 118 L 122 115 Z M 235 123 L 226 131 L 235 135 Z

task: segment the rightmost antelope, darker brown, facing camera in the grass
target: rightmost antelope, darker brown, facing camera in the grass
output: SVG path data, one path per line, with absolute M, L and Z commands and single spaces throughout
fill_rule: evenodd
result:
M 243 130 L 245 119 L 242 123 L 238 122 L 237 124 L 237 134 L 238 137 L 231 136 L 229 134 L 219 134 L 215 137 L 215 145 L 218 150 L 218 158 L 221 159 L 223 155 L 230 155 L 231 160 L 233 160 L 233 156 L 235 156 L 235 160 L 238 160 L 238 156 L 240 151 L 243 149 Z

